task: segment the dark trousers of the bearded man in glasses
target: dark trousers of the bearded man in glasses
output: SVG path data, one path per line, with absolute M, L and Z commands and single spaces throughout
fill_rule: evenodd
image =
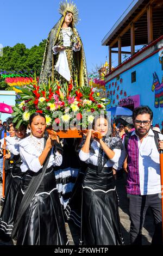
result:
M 162 244 L 162 210 L 159 194 L 144 196 L 127 194 L 130 212 L 130 239 L 131 245 L 142 244 L 142 228 L 145 223 L 146 211 L 151 208 L 154 217 L 155 231 L 152 238 L 153 245 Z

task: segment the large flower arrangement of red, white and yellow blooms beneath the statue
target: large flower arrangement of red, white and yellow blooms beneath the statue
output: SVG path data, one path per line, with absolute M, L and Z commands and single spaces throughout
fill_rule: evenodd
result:
M 53 125 L 54 130 L 68 130 L 73 125 L 81 130 L 92 124 L 95 114 L 105 112 L 105 99 L 95 88 L 61 85 L 59 81 L 39 85 L 35 79 L 22 86 L 21 91 L 12 108 L 16 127 L 28 123 L 31 114 L 40 112 L 45 115 L 47 126 Z

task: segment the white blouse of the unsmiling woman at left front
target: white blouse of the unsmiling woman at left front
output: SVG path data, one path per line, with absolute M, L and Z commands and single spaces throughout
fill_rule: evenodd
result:
M 43 167 L 40 164 L 39 156 L 41 155 L 44 147 L 44 139 L 36 138 L 34 136 L 28 136 L 18 142 L 20 147 L 20 156 L 23 161 L 21 164 L 22 172 L 27 172 L 27 170 L 32 170 L 37 173 Z M 47 168 L 53 166 L 60 166 L 62 163 L 62 155 L 57 151 L 55 154 L 51 152 L 49 157 L 49 162 Z

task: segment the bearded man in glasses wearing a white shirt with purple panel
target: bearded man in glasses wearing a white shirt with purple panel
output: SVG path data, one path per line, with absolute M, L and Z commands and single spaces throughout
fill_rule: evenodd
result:
M 155 223 L 152 244 L 162 244 L 159 153 L 160 149 L 163 150 L 163 141 L 160 141 L 163 136 L 152 131 L 152 119 L 153 112 L 148 106 L 134 109 L 135 131 L 131 132 L 128 140 L 124 138 L 123 154 L 119 161 L 122 164 L 127 157 L 127 197 L 132 245 L 142 244 L 142 227 L 148 208 L 153 212 Z

